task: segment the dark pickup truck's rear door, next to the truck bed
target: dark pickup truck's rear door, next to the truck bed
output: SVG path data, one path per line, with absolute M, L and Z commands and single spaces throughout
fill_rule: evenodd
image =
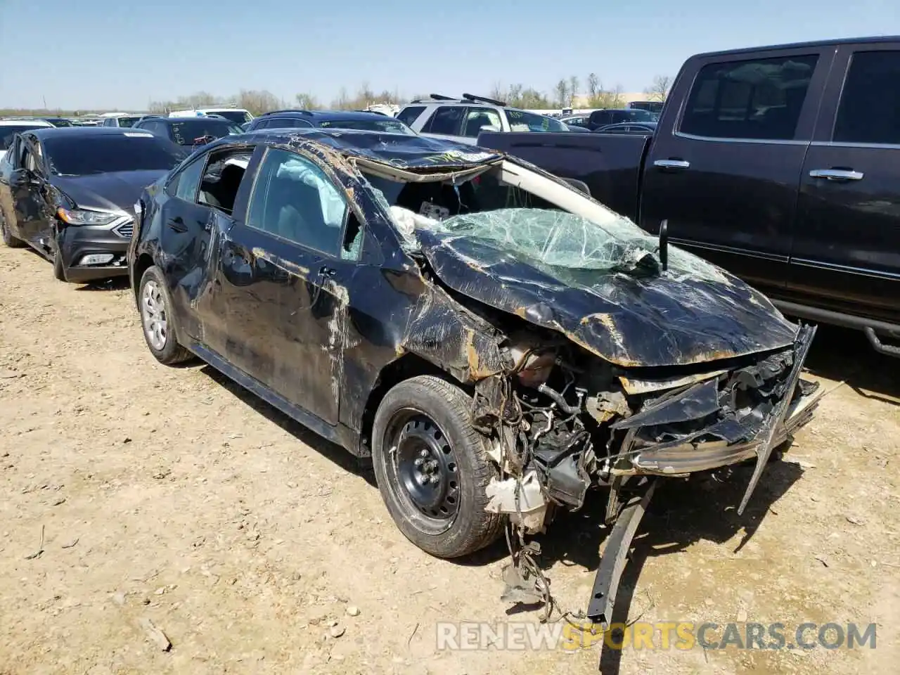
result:
M 777 295 L 834 48 L 691 58 L 644 167 L 640 224 Z

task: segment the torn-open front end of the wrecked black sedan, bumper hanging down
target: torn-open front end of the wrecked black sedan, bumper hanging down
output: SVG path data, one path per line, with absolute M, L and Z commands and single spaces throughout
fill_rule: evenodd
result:
M 590 489 L 608 488 L 606 521 L 615 524 L 587 613 L 599 623 L 609 623 L 656 477 L 755 458 L 743 513 L 773 449 L 813 416 L 818 384 L 800 374 L 814 336 L 815 327 L 800 326 L 790 347 L 653 377 L 571 343 L 509 347 L 509 382 L 497 376 L 479 383 L 473 415 L 496 439 L 508 476 L 488 488 L 488 509 L 509 514 L 517 533 L 504 597 L 549 603 L 531 560 L 539 549 L 524 536 L 543 531 L 555 509 L 581 509 Z

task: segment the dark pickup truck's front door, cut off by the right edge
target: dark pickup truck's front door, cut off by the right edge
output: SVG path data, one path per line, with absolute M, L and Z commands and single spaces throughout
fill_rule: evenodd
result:
M 898 111 L 900 42 L 842 46 L 801 175 L 797 302 L 900 323 Z

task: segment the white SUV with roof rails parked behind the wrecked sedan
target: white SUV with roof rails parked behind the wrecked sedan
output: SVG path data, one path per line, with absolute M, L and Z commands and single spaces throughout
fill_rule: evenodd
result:
M 397 113 L 422 136 L 475 145 L 482 131 L 568 131 L 563 122 L 546 115 L 510 108 L 502 101 L 463 94 L 456 99 L 440 94 L 411 101 Z

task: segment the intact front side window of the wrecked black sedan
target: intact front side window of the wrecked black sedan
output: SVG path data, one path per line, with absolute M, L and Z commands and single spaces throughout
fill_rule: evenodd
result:
M 319 251 L 356 260 L 363 228 L 344 194 L 311 160 L 269 148 L 259 166 L 247 225 Z

